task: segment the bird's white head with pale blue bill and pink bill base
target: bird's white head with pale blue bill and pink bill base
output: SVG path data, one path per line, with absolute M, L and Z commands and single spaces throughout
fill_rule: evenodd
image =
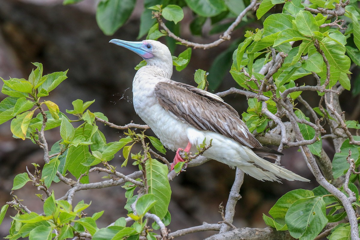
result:
M 144 40 L 141 42 L 130 42 L 120 39 L 112 39 L 109 42 L 125 47 L 139 54 L 148 65 L 171 64 L 172 56 L 168 47 L 155 40 Z

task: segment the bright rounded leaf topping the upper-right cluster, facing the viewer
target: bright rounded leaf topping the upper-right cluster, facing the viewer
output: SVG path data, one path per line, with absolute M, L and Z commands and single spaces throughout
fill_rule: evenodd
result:
M 319 25 L 314 16 L 307 11 L 300 11 L 296 14 L 295 24 L 297 30 L 306 36 L 314 36 L 315 31 L 319 31 Z

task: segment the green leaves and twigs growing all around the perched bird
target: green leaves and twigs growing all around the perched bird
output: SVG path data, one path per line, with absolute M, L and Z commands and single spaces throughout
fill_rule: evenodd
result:
M 64 4 L 79 1 L 81 0 L 64 0 Z M 112 35 L 127 21 L 135 2 L 99 2 L 96 20 L 104 34 Z M 248 4 L 247 1 L 239 0 L 145 0 L 138 37 L 147 35 L 147 39 L 153 40 L 166 37 L 168 45 L 173 46 L 172 52 L 176 41 L 186 45 L 186 49 L 178 57 L 173 57 L 176 70 L 181 71 L 190 62 L 191 47 L 198 47 L 191 42 L 171 37 L 172 32 L 169 29 L 179 30 L 183 24 L 183 8 L 189 8 L 194 15 L 189 26 L 192 34 L 202 35 L 207 18 L 211 20 L 211 29 L 208 33 L 226 32 L 230 25 L 229 19 L 245 11 L 245 5 Z M 355 171 L 360 165 L 360 138 L 352 136 L 348 128 L 360 127 L 356 121 L 343 121 L 340 113 L 332 107 L 334 95 L 331 95 L 338 94 L 344 89 L 350 90 L 351 85 L 359 85 L 357 82 L 351 82 L 349 78 L 351 66 L 360 65 L 360 9 L 357 4 L 355 0 L 311 0 L 306 3 L 301 0 L 263 0 L 258 6 L 256 17 L 248 14 L 246 19 L 242 19 L 241 24 L 247 24 L 246 33 L 214 59 L 215 65 L 211 67 L 213 71 L 210 71 L 210 75 L 207 76 L 207 72 L 201 69 L 194 75 L 194 81 L 200 89 L 206 89 L 208 82 L 210 88 L 216 89 L 225 73 L 230 72 L 239 87 L 246 90 L 238 92 L 248 96 L 249 107 L 242 117 L 251 132 L 267 136 L 276 124 L 282 127 L 282 118 L 287 118 L 292 124 L 293 131 L 299 133 L 296 135 L 296 141 L 291 142 L 282 129 L 279 150 L 285 145 L 299 147 L 320 186 L 311 191 L 289 191 L 270 209 L 271 217 L 263 215 L 267 225 L 277 231 L 289 231 L 295 238 L 314 239 L 328 223 L 334 222 L 338 224 L 332 232 L 329 231 L 330 239 L 348 239 L 351 232 L 358 231 L 358 219 L 354 209 L 360 206 L 359 191 L 356 187 L 359 184 L 359 176 Z M 282 12 L 269 14 L 269 10 L 275 5 L 279 5 Z M 166 25 L 163 25 L 162 19 L 167 21 Z M 254 29 L 248 24 L 251 22 L 263 27 Z M 346 30 L 343 23 L 348 26 Z M 12 194 L 13 201 L 4 205 L 0 212 L 1 223 L 9 206 L 17 211 L 7 238 L 61 240 L 81 236 L 102 240 L 140 237 L 156 239 L 157 234 L 149 228 L 149 221 L 152 221 L 153 229 L 160 228 L 161 237 L 167 239 L 165 225 L 171 221 L 167 210 L 171 196 L 168 182 L 170 166 L 166 159 L 157 153 L 154 154 L 149 148 L 150 142 L 157 151 L 165 153 L 161 142 L 155 137 L 146 136 L 144 132 L 135 132 L 130 128 L 126 137 L 116 142 L 107 142 L 96 122 L 108 125 L 111 123 L 104 114 L 89 110 L 94 101 L 84 103 L 77 99 L 72 103 L 73 109 L 66 110 L 67 114 L 61 112 L 53 101 L 40 101 L 67 78 L 67 71 L 43 76 L 42 64 L 33 64 L 36 69 L 31 72 L 28 80 L 2 79 L 4 86 L 1 92 L 8 97 L 0 103 L 0 124 L 12 119 L 10 129 L 15 138 L 30 139 L 44 150 L 44 168 L 38 169 L 39 166 L 34 164 L 34 174 L 27 171 L 15 176 L 12 189 L 20 189 L 27 182 L 32 182 L 34 186 L 43 190 L 46 196 L 38 196 L 44 201 L 44 214 L 31 212 L 21 204 L 21 199 Z M 135 69 L 145 64 L 146 62 L 141 62 Z M 211 78 L 212 74 L 217 77 L 216 80 Z M 316 83 L 313 86 L 301 86 L 301 78 L 308 75 L 314 76 Z M 317 107 L 311 108 L 302 99 L 303 91 L 312 91 L 314 94 L 316 92 L 321 101 L 325 102 L 325 107 L 320 102 Z M 306 112 L 297 107 L 299 103 Z M 309 113 L 311 116 L 307 116 Z M 315 121 L 311 122 L 310 117 Z M 320 121 L 324 119 L 336 123 L 336 127 L 330 125 L 333 131 L 334 128 L 343 130 L 341 134 L 333 134 L 338 136 L 330 136 L 343 141 L 339 146 L 340 151 L 335 154 L 330 164 L 332 174 L 325 176 L 326 179 L 321 175 L 316 163 L 314 165 L 315 160 L 311 155 L 325 160 L 322 151 L 325 130 L 320 125 Z M 80 123 L 80 126 L 77 124 L 78 127 L 74 127 L 75 122 Z M 44 131 L 53 128 L 58 129 L 61 139 L 49 151 Z M 142 146 L 139 153 L 131 151 L 134 144 Z M 120 150 L 125 157 L 122 166 L 126 167 L 129 159 L 132 159 L 131 163 L 139 166 L 139 172 L 125 176 L 109 164 Z M 183 164 L 184 162 L 175 166 L 177 172 L 181 171 Z M 96 167 L 98 165 L 105 168 Z M 314 171 L 316 168 L 318 171 Z M 101 186 L 108 186 L 111 181 L 112 186 L 123 185 L 126 189 L 127 217 L 120 217 L 112 226 L 99 229 L 96 221 L 103 212 L 88 217 L 84 210 L 89 204 L 81 201 L 73 208 L 72 197 L 69 194 L 57 200 L 55 193 L 48 190 L 51 184 L 59 181 L 73 189 L 94 189 L 99 185 L 89 183 L 87 175 L 91 171 L 108 173 L 109 180 L 100 182 Z M 76 181 L 66 177 L 68 172 Z M 344 178 L 346 181 L 341 180 Z M 138 195 L 134 195 L 135 189 L 140 189 Z M 354 213 L 355 225 L 354 221 L 351 221 L 354 218 L 351 213 Z

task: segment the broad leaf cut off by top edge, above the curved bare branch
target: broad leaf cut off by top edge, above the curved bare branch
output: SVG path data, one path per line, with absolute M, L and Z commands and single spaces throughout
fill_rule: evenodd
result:
M 185 0 L 194 13 L 202 17 L 213 17 L 226 11 L 226 5 L 222 0 Z

